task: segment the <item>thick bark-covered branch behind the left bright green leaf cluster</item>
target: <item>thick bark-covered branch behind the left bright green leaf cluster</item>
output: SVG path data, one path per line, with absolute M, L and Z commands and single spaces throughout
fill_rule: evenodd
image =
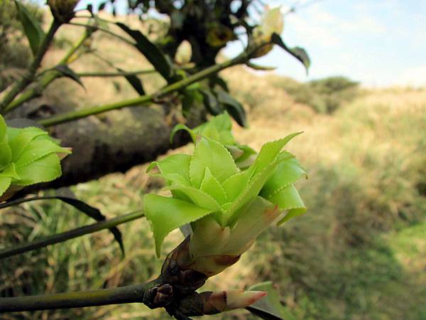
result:
M 70 111 L 67 107 L 43 106 L 33 112 L 31 105 L 8 114 L 11 118 L 38 119 L 46 114 Z M 194 110 L 189 125 L 204 121 L 204 110 Z M 62 176 L 51 183 L 26 188 L 26 193 L 40 188 L 58 188 L 90 181 L 112 172 L 125 172 L 131 167 L 153 161 L 169 149 L 182 146 L 190 138 L 177 134 L 170 144 L 170 132 L 176 124 L 166 107 L 133 107 L 59 124 L 50 129 L 62 146 L 73 153 L 61 161 Z

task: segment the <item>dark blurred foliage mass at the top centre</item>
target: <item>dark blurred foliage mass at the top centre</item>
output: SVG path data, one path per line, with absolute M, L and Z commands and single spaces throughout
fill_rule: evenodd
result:
M 247 27 L 253 0 L 147 1 L 128 0 L 129 9 L 147 13 L 154 8 L 170 18 L 168 31 L 158 44 L 171 57 L 182 41 L 192 46 L 192 62 L 199 67 L 214 65 L 217 53 L 226 43 L 236 40 L 236 28 Z M 250 30 L 250 28 L 249 28 Z

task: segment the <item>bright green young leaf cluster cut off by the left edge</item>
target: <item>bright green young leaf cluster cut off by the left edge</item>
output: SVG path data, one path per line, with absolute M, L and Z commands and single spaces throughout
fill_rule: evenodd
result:
M 37 127 L 7 127 L 0 115 L 0 200 L 18 190 L 61 175 L 60 156 L 70 154 L 48 132 Z

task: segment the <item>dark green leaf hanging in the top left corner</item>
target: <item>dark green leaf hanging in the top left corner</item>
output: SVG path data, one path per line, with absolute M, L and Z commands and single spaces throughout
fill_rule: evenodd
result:
M 23 31 L 28 38 L 28 42 L 30 43 L 31 51 L 33 55 L 37 55 L 38 49 L 40 48 L 40 44 L 45 37 L 45 33 L 43 32 L 40 23 L 37 19 L 31 14 L 30 11 L 26 9 L 26 7 L 21 4 L 19 1 L 15 0 L 16 9 L 18 11 L 18 18 L 21 21 L 23 26 Z

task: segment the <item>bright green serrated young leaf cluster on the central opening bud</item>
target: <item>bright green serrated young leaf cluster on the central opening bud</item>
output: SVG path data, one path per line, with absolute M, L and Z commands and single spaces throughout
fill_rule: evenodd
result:
M 241 147 L 234 142 L 231 119 L 227 114 L 214 117 L 194 131 L 187 130 L 195 139 L 193 154 L 173 154 L 153 162 L 147 170 L 158 167 L 159 173 L 151 175 L 164 178 L 173 195 L 147 194 L 144 197 L 157 255 L 160 255 L 160 247 L 170 231 L 187 223 L 195 229 L 197 222 L 207 215 L 222 228 L 238 228 L 239 220 L 246 219 L 246 214 L 261 216 L 271 208 L 279 208 L 280 213 L 288 211 L 278 224 L 305 212 L 305 205 L 293 185 L 305 175 L 305 171 L 293 154 L 281 151 L 300 133 L 264 144 L 251 165 L 241 169 L 226 148 Z M 246 152 L 239 155 L 246 156 L 251 152 L 246 147 Z

